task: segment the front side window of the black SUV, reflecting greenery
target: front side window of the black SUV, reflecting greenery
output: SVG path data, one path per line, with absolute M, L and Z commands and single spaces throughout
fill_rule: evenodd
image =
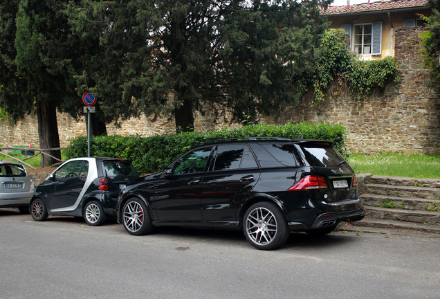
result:
M 203 147 L 185 154 L 173 167 L 173 174 L 204 172 L 212 147 Z

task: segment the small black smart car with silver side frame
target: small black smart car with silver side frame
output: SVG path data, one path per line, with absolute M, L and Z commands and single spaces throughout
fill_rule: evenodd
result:
M 118 158 L 73 158 L 35 188 L 29 210 L 35 221 L 48 215 L 84 217 L 103 224 L 116 215 L 120 189 L 139 177 L 130 161 Z

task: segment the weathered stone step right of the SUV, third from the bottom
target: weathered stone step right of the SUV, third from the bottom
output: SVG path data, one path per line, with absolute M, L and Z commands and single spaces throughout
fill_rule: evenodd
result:
M 384 208 L 386 203 L 394 203 L 396 209 L 403 210 L 428 210 L 428 208 L 440 209 L 439 199 L 418 199 L 413 197 L 392 197 L 387 195 L 364 193 L 361 195 L 365 206 Z

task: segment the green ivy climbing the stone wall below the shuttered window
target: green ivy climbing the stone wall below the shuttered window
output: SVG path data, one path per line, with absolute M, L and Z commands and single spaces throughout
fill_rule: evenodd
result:
M 318 69 L 313 82 L 315 105 L 348 89 L 351 96 L 380 90 L 389 82 L 398 82 L 400 71 L 394 57 L 383 60 L 360 60 L 347 46 L 343 29 L 329 29 L 321 37 Z

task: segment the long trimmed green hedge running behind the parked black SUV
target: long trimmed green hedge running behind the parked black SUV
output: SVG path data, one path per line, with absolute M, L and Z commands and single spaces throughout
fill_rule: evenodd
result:
M 335 147 L 345 152 L 345 127 L 318 123 L 298 123 L 286 125 L 247 125 L 235 129 L 164 134 L 152 137 L 141 136 L 95 136 L 91 138 L 91 156 L 125 158 L 132 161 L 141 174 L 158 172 L 172 163 L 188 149 L 206 141 L 223 138 L 250 136 L 273 136 L 284 138 L 304 138 L 333 141 Z M 87 156 L 87 138 L 71 139 L 64 151 L 67 158 Z

